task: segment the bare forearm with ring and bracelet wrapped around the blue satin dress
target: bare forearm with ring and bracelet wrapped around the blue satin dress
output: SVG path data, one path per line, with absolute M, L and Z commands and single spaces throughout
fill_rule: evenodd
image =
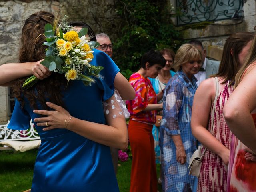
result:
M 112 97 L 110 100 L 113 99 Z M 34 119 L 35 122 L 38 122 L 38 126 L 46 126 L 47 122 L 49 126 L 45 127 L 43 129 L 44 131 L 48 131 L 54 128 L 65 128 L 66 126 L 68 130 L 100 144 L 119 149 L 125 149 L 127 147 L 128 133 L 126 119 L 124 116 L 117 116 L 116 118 L 112 118 L 112 116 L 106 116 L 106 123 L 108 125 L 104 125 L 80 120 L 74 117 L 71 118 L 69 112 L 61 106 L 57 106 L 50 102 L 47 102 L 46 104 L 50 108 L 53 108 L 55 111 L 34 110 L 34 113 L 46 115 L 46 117 Z M 117 105 L 115 106 L 118 107 Z M 64 123 L 65 119 L 66 124 Z

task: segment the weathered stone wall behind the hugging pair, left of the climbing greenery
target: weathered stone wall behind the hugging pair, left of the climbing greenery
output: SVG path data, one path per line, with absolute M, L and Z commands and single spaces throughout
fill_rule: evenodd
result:
M 89 24 L 95 33 L 105 32 L 115 38 L 118 19 L 114 0 L 0 0 L 0 65 L 18 62 L 20 34 L 24 21 L 34 12 L 45 10 L 68 21 Z M 8 89 L 0 87 L 0 124 L 8 120 Z

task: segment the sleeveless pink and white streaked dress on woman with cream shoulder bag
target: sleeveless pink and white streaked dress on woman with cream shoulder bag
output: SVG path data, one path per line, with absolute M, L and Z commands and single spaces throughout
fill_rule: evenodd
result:
M 222 110 L 233 90 L 233 86 L 229 86 L 229 82 L 226 82 L 224 89 L 219 93 L 216 101 L 212 130 L 212 135 L 228 149 L 231 146 L 232 133 L 225 122 Z M 211 117 L 209 117 L 209 131 L 211 124 Z M 202 147 L 202 152 L 203 150 L 204 147 Z M 226 192 L 227 174 L 228 166 L 224 164 L 220 156 L 207 149 L 202 159 L 202 167 L 198 179 L 198 192 Z

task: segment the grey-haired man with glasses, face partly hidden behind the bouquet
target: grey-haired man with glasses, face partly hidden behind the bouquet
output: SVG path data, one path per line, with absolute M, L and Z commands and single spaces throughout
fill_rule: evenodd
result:
M 113 51 L 109 36 L 105 33 L 96 34 L 95 36 L 97 42 L 100 44 L 97 49 L 105 52 L 108 56 L 112 57 Z

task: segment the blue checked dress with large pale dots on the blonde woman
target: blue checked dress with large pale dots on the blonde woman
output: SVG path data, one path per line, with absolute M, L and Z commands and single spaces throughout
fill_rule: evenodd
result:
M 164 176 L 164 192 L 190 191 L 196 184 L 195 177 L 188 174 L 188 162 L 196 150 L 196 138 L 192 135 L 190 122 L 192 104 L 196 92 L 196 78 L 188 77 L 180 70 L 169 80 L 164 90 L 163 119 L 160 126 L 161 170 Z M 186 163 L 176 160 L 176 146 L 172 135 L 180 135 L 186 151 Z M 189 189 L 190 188 L 190 189 Z

